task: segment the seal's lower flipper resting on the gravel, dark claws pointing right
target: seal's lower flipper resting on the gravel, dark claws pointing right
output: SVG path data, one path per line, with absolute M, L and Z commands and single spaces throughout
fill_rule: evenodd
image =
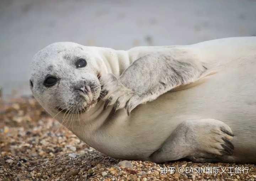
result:
M 228 125 L 215 119 L 183 121 L 150 156 L 150 161 L 166 162 L 188 158 L 196 162 L 232 161 L 233 134 Z

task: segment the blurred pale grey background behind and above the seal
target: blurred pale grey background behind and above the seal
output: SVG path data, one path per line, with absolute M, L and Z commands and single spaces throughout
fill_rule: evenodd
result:
M 252 0 L 0 0 L 1 97 L 30 94 L 32 57 L 54 42 L 126 50 L 255 35 Z

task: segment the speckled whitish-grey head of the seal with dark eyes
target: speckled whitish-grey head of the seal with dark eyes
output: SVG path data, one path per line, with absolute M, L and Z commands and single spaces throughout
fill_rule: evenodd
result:
M 34 97 L 52 114 L 89 110 L 101 92 L 100 71 L 93 58 L 81 45 L 71 42 L 42 49 L 32 62 L 30 87 Z

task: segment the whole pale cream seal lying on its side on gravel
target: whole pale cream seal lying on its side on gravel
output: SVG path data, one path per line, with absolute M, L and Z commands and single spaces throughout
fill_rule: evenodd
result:
M 59 42 L 33 57 L 30 87 L 113 158 L 255 163 L 255 68 L 256 37 L 127 51 Z

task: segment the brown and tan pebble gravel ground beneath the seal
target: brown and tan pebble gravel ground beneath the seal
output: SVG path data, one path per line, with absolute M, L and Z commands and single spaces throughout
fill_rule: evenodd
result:
M 177 171 L 180 167 L 192 169 L 194 173 L 180 174 Z M 215 168 L 215 171 L 195 173 L 198 168 Z M 216 171 L 218 168 L 220 171 Z M 234 173 L 235 168 L 240 168 L 241 173 Z M 256 166 L 116 160 L 81 142 L 52 119 L 36 100 L 27 97 L 0 102 L 0 181 L 9 180 L 254 181 Z

